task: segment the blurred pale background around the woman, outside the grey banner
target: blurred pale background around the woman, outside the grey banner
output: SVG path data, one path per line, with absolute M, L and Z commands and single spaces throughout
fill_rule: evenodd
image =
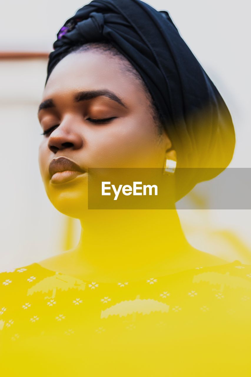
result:
M 126 0 L 125 0 L 126 1 Z M 48 53 L 81 0 L 13 0 L 0 12 L 0 272 L 74 247 L 80 225 L 47 199 L 38 167 L 37 108 Z M 230 109 L 236 150 L 230 167 L 251 167 L 250 3 L 246 0 L 148 0 L 167 10 Z M 196 200 L 196 188 L 191 193 Z M 188 241 L 228 261 L 251 263 L 250 210 L 178 210 Z

